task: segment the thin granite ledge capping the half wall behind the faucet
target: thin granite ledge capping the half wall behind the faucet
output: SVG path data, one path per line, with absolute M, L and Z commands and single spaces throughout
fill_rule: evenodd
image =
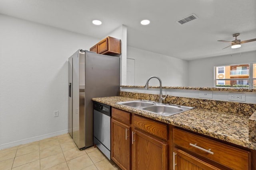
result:
M 144 88 L 144 86 L 121 86 L 129 88 Z M 159 86 L 148 86 L 148 88 L 160 88 Z M 167 89 L 185 89 L 185 90 L 213 90 L 213 91 L 231 91 L 231 92 L 256 92 L 256 88 L 214 88 L 214 87 L 176 87 L 176 86 L 163 86 Z

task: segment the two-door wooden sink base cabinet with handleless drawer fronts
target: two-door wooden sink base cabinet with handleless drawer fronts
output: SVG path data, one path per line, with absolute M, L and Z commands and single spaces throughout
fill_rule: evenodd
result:
M 111 159 L 122 170 L 167 170 L 167 125 L 131 116 L 112 108 Z

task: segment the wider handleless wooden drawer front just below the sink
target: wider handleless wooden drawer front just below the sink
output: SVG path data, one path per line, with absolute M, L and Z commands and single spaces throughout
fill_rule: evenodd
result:
M 168 140 L 167 125 L 136 115 L 134 115 L 133 119 L 134 128 L 140 129 L 161 139 Z

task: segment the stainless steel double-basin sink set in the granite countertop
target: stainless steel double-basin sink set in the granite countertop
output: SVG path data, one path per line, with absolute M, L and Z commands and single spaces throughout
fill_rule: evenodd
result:
M 162 116 L 170 116 L 183 111 L 194 109 L 194 107 L 180 106 L 180 105 L 173 105 L 173 104 L 160 104 L 160 103 L 152 102 L 148 100 L 118 102 L 117 104 L 122 104 L 122 105 L 130 106 L 136 109 L 150 111 L 152 113 L 156 113 Z

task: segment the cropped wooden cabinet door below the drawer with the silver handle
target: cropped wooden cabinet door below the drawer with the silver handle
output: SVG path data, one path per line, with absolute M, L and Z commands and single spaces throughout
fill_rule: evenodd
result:
M 220 170 L 182 150 L 174 148 L 174 170 Z

